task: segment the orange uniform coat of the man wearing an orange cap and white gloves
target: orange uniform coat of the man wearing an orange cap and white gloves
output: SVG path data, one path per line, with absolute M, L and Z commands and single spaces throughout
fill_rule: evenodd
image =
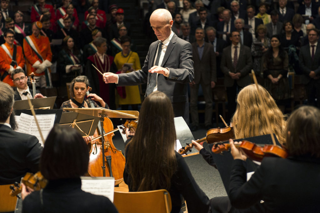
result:
M 50 47 L 50 42 L 48 37 L 44 37 L 43 35 L 39 35 L 39 38 L 36 38 L 33 34 L 30 35 L 31 40 L 35 44 L 36 47 L 38 47 L 38 52 L 43 57 L 44 60 L 48 60 L 51 62 L 52 59 L 52 52 Z M 35 76 L 44 75 L 44 72 L 38 74 L 36 73 L 36 69 L 32 67 L 36 61 L 40 61 L 42 63 L 43 61 L 36 55 L 35 51 L 30 47 L 26 39 L 23 39 L 23 50 L 24 55 L 26 57 L 26 65 L 27 65 L 27 73 L 30 75 L 31 72 L 35 73 Z M 51 72 L 50 68 L 48 68 Z

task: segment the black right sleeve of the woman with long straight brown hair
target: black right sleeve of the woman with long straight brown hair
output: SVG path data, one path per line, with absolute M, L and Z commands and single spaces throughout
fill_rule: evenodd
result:
M 193 178 L 183 157 L 176 153 L 177 171 L 172 177 L 174 186 L 187 202 L 188 212 L 208 212 L 209 199 Z

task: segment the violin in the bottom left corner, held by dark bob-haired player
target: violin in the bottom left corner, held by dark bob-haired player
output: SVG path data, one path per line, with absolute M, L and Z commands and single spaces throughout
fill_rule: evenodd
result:
M 42 176 L 40 171 L 38 171 L 36 174 L 27 172 L 26 175 L 22 178 L 21 182 L 35 191 L 43 189 L 48 183 L 48 181 Z M 15 182 L 14 185 L 10 186 L 10 189 L 11 192 L 9 194 L 12 197 L 17 196 L 18 198 L 20 198 L 18 194 L 21 193 L 21 184 Z

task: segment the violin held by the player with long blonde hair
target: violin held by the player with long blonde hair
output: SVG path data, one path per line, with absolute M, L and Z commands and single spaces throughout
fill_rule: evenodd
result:
M 201 138 L 196 140 L 197 143 L 199 143 L 200 145 L 202 145 L 205 141 L 209 144 L 218 142 L 218 141 L 227 141 L 230 138 L 234 138 L 235 137 L 235 133 L 233 132 L 233 124 L 232 122 L 230 123 L 230 126 L 227 126 L 225 128 L 213 128 L 213 129 L 209 129 L 206 132 L 206 137 Z M 179 149 L 178 153 L 180 155 L 184 155 L 186 154 L 188 151 L 191 152 L 191 149 L 193 148 L 193 144 L 192 143 L 187 143 L 187 146 L 182 147 Z

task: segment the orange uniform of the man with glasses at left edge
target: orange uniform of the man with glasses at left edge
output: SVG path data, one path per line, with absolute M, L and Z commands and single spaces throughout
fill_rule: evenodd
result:
M 10 54 L 12 55 L 14 44 L 12 46 L 10 46 L 7 42 L 5 42 L 4 45 L 8 48 Z M 12 59 L 10 58 L 10 56 L 4 51 L 4 49 L 2 47 L 0 47 L 0 73 L 1 73 L 1 76 L 9 71 L 11 62 L 12 62 Z M 24 68 L 25 60 L 24 60 L 23 53 L 22 53 L 22 47 L 19 45 L 17 45 L 16 62 L 18 64 L 18 66 L 20 66 L 21 68 Z M 13 66 L 13 68 L 16 68 L 16 67 L 17 67 L 17 65 Z M 12 82 L 11 74 L 8 74 L 3 79 L 3 82 L 9 84 L 12 87 L 14 86 L 14 84 Z

